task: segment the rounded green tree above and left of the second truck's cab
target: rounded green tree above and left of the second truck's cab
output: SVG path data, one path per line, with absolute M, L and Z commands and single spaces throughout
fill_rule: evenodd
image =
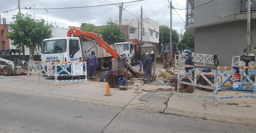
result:
M 108 44 L 114 44 L 116 42 L 125 42 L 125 34 L 121 31 L 121 26 L 107 22 L 107 25 L 103 26 L 100 31 L 102 39 Z

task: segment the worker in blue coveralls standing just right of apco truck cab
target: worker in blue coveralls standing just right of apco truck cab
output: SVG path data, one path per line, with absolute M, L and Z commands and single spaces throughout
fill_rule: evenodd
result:
M 95 80 L 96 76 L 96 68 L 98 66 L 98 58 L 94 55 L 95 53 L 92 51 L 91 55 L 86 59 L 89 62 L 89 79 Z

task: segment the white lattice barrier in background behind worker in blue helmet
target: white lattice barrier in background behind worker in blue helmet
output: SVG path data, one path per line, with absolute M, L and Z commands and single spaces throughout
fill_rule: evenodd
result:
M 192 54 L 193 61 L 197 63 L 202 63 L 203 66 L 206 66 L 206 64 L 214 65 L 213 61 L 213 55 L 212 54 Z M 184 54 L 177 54 L 175 55 L 175 66 L 177 64 L 184 64 L 186 60 L 186 55 Z

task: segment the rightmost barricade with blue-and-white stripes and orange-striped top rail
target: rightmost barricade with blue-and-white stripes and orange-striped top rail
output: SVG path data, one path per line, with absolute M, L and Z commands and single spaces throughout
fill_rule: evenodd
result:
M 244 69 L 250 69 L 251 72 L 247 75 L 244 72 Z M 228 75 L 224 70 L 231 70 L 232 74 Z M 225 84 L 232 85 L 234 83 L 232 81 L 232 78 L 234 76 L 233 67 L 218 67 L 218 69 L 217 69 L 217 77 L 220 75 L 220 72 L 222 73 L 222 75 L 224 75 L 225 79 L 218 86 L 216 86 L 216 89 L 214 91 L 214 99 L 215 99 L 214 106 L 217 106 L 217 100 L 226 100 L 226 99 L 253 98 L 253 103 L 255 103 L 256 83 L 255 83 L 255 80 L 252 81 L 250 79 L 250 76 L 252 76 L 253 74 L 254 75 L 256 74 L 256 66 L 239 67 L 239 72 L 245 77 L 244 80 L 239 82 L 239 88 L 234 88 L 233 86 L 230 86 L 230 87 L 226 87 L 225 86 Z M 241 76 L 241 75 L 239 74 L 239 76 Z M 249 81 L 251 86 L 244 86 L 246 81 Z M 219 82 L 219 78 L 217 78 L 217 82 Z M 219 94 L 218 90 L 228 90 L 228 91 L 236 91 L 236 92 L 237 91 L 243 91 L 243 92 L 251 91 L 251 92 L 248 92 L 248 93 L 253 93 L 253 95 L 218 97 L 218 94 Z

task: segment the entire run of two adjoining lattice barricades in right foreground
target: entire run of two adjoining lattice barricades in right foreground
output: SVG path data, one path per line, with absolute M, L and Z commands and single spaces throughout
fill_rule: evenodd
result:
M 184 67 L 191 67 L 192 69 L 186 72 L 184 70 Z M 215 73 L 213 75 L 214 80 L 213 82 L 209 81 L 202 72 L 198 68 L 202 69 L 213 69 L 215 70 Z M 195 98 L 207 98 L 207 99 L 214 99 L 214 106 L 217 106 L 217 101 L 218 100 L 226 100 L 226 99 L 241 99 L 241 98 L 253 98 L 253 103 L 255 103 L 255 94 L 256 94 L 256 81 L 252 81 L 250 79 L 250 76 L 252 74 L 256 74 L 256 66 L 252 67 L 239 67 L 240 73 L 245 77 L 245 79 L 240 82 L 240 86 L 243 86 L 248 80 L 252 86 L 244 86 L 241 87 L 242 90 L 248 90 L 248 89 L 253 89 L 253 95 L 240 95 L 240 96 L 227 96 L 227 97 L 218 97 L 219 95 L 219 90 L 230 90 L 230 91 L 237 91 L 236 89 L 231 87 L 223 87 L 227 82 L 230 82 L 232 84 L 232 77 L 233 74 L 227 76 L 227 74 L 224 72 L 224 69 L 231 70 L 232 67 L 204 67 L 204 66 L 194 66 L 194 65 L 178 65 L 178 79 L 177 79 L 177 95 L 181 97 L 195 97 Z M 253 69 L 248 75 L 245 74 L 243 69 Z M 182 70 L 185 74 L 183 76 L 180 76 L 180 70 Z M 190 74 L 195 71 L 194 77 L 191 77 Z M 224 75 L 225 79 L 220 81 L 220 72 Z M 202 85 L 202 84 L 197 84 L 197 76 L 202 76 L 204 80 L 207 81 L 208 85 Z M 188 78 L 189 81 L 182 81 L 184 78 Z M 222 78 L 222 77 L 221 77 Z M 256 78 L 255 78 L 256 79 Z M 200 88 L 207 88 L 213 90 L 213 96 L 203 96 L 203 95 L 190 95 L 190 94 L 180 94 L 179 89 L 180 86 L 179 84 L 186 84 L 192 87 L 200 87 Z

